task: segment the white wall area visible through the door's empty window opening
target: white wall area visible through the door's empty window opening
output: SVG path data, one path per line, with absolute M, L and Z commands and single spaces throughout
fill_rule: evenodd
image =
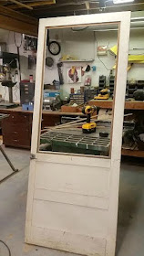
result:
M 59 43 L 61 44 L 61 52 L 55 57 L 52 56 L 48 50 L 46 50 L 46 57 L 50 56 L 55 60 L 55 65 L 53 69 L 46 68 L 45 73 L 45 81 L 46 83 L 51 83 L 54 79 L 58 80 L 57 73 L 57 60 L 63 55 L 70 55 L 77 57 L 77 59 L 94 59 L 93 62 L 70 62 L 63 63 L 63 77 L 65 84 L 61 86 L 61 89 L 70 92 L 70 88 L 75 88 L 77 91 L 80 86 L 84 85 L 84 80 L 87 75 L 90 75 L 92 78 L 92 86 L 98 87 L 98 77 L 99 75 L 109 75 L 109 71 L 104 68 L 104 65 L 100 62 L 97 56 L 97 42 L 96 42 L 96 32 L 94 31 L 78 31 L 72 32 L 71 29 L 61 29 L 60 31 L 57 29 L 52 29 L 49 31 L 50 40 L 55 40 L 58 38 Z M 106 39 L 107 38 L 107 39 Z M 117 42 L 117 33 L 108 33 L 104 38 L 104 33 L 99 34 L 98 32 L 98 45 L 108 45 L 112 47 Z M 115 64 L 115 58 L 108 53 L 107 57 L 101 57 L 102 61 L 105 62 L 105 65 L 108 66 L 108 69 Z M 86 72 L 82 77 L 81 83 L 73 83 L 68 84 L 66 80 L 66 72 L 67 68 L 72 66 L 76 67 L 84 67 L 85 65 L 96 66 L 97 70 Z M 54 74 L 57 74 L 54 76 Z

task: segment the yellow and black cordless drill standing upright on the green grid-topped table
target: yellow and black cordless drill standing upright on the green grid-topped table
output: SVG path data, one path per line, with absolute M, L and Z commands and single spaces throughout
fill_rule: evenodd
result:
M 83 133 L 95 133 L 96 132 L 96 123 L 90 122 L 90 117 L 93 112 L 95 112 L 97 108 L 95 106 L 86 106 L 82 109 L 84 114 L 87 114 L 87 123 L 82 125 Z

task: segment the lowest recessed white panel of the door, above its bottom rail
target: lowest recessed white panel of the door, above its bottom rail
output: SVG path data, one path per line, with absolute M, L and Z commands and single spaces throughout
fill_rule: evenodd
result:
M 63 230 L 99 238 L 105 238 L 107 235 L 106 210 L 43 200 L 34 200 L 33 209 L 32 226 L 34 227 Z

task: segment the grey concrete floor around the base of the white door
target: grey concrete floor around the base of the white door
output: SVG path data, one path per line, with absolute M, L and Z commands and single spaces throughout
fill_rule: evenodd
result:
M 26 192 L 28 181 L 29 152 L 6 148 L 15 167 L 20 172 L 0 184 L 0 240 L 11 249 L 12 256 L 72 256 L 24 243 L 26 218 Z M 11 173 L 0 154 L 0 179 Z M 121 165 L 117 256 L 144 255 L 144 168 L 139 165 Z M 0 243 L 0 256 L 7 256 Z

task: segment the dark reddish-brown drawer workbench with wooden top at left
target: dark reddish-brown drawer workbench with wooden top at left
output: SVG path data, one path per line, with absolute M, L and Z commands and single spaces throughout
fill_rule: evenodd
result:
M 23 111 L 22 107 L 11 109 L 0 109 L 0 113 L 7 113 L 9 116 L 2 121 L 3 143 L 5 146 L 13 146 L 30 149 L 33 112 Z M 81 112 L 42 112 L 42 125 L 54 126 L 61 123 L 62 116 L 84 116 Z

